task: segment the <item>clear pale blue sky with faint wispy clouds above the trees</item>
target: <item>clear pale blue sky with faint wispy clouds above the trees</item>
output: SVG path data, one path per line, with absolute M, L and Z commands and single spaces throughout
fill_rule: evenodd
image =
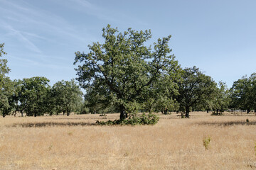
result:
M 75 52 L 103 42 L 102 28 L 171 35 L 181 67 L 199 67 L 228 87 L 256 72 L 255 0 L 0 0 L 0 43 L 11 79 L 76 78 Z

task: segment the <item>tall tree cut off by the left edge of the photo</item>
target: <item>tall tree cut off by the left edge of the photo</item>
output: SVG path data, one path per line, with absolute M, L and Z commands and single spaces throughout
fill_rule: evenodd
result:
M 0 57 L 6 55 L 4 52 L 4 43 L 0 44 Z M 13 91 L 13 84 L 6 74 L 9 74 L 10 69 L 7 67 L 7 60 L 0 59 L 0 114 L 5 117 L 11 113 L 10 96 Z

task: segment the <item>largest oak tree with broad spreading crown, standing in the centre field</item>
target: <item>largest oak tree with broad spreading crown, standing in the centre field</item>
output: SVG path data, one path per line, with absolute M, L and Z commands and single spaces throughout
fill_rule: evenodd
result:
M 137 31 L 129 28 L 119 33 L 108 25 L 102 29 L 105 42 L 88 45 L 90 52 L 75 52 L 76 69 L 80 85 L 90 86 L 120 111 L 120 120 L 127 118 L 129 106 L 142 104 L 144 94 L 150 90 L 161 74 L 176 67 L 174 55 L 169 55 L 169 40 L 158 39 L 154 50 L 144 43 L 151 38 L 151 30 Z

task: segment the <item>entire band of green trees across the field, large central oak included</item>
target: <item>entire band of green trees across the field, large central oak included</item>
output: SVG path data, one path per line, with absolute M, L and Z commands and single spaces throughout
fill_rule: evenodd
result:
M 170 111 L 189 118 L 191 111 L 256 111 L 256 74 L 242 77 L 228 89 L 197 67 L 182 69 L 170 55 L 169 40 L 159 38 L 146 46 L 151 31 L 129 28 L 119 33 L 103 28 L 105 42 L 89 45 L 90 52 L 75 52 L 78 82 L 58 81 L 53 86 L 45 77 L 11 81 L 7 60 L 0 59 L 0 114 L 28 116 L 71 112 L 120 113 L 120 120 L 140 112 Z M 0 57 L 6 55 L 0 45 Z

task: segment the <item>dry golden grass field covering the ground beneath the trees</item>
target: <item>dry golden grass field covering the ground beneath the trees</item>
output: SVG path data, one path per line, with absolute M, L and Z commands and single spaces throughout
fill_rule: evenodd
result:
M 0 118 L 0 169 L 256 169 L 256 116 L 209 114 L 134 127 L 97 126 L 99 115 Z

